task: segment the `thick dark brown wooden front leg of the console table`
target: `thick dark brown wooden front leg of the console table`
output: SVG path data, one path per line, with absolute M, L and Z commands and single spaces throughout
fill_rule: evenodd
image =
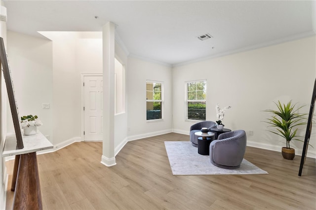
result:
M 40 176 L 36 152 L 21 154 L 13 210 L 42 210 Z

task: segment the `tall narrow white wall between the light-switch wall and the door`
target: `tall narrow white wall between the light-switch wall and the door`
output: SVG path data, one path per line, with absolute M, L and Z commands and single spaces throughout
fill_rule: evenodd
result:
M 80 137 L 76 39 L 53 40 L 53 133 L 56 145 Z M 79 86 L 79 87 L 78 87 Z M 75 97 L 77 96 L 77 97 Z M 79 127 L 79 128 L 78 128 Z

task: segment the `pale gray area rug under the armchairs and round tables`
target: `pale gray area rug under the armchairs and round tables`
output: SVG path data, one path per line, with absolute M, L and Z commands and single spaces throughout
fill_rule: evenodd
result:
M 209 155 L 197 153 L 190 141 L 164 141 L 173 175 L 255 175 L 268 174 L 243 159 L 238 169 L 222 169 L 211 164 Z

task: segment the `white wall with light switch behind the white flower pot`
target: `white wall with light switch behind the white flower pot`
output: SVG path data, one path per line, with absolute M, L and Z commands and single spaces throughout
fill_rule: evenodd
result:
M 52 43 L 47 39 L 8 31 L 7 53 L 19 115 L 38 115 L 43 125 L 38 129 L 52 139 Z M 51 108 L 43 109 L 42 103 Z M 8 133 L 14 133 L 8 106 Z

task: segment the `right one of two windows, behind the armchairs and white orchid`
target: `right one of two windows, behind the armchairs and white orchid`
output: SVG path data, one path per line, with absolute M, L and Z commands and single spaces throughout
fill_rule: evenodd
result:
M 186 82 L 186 120 L 206 119 L 206 80 Z

